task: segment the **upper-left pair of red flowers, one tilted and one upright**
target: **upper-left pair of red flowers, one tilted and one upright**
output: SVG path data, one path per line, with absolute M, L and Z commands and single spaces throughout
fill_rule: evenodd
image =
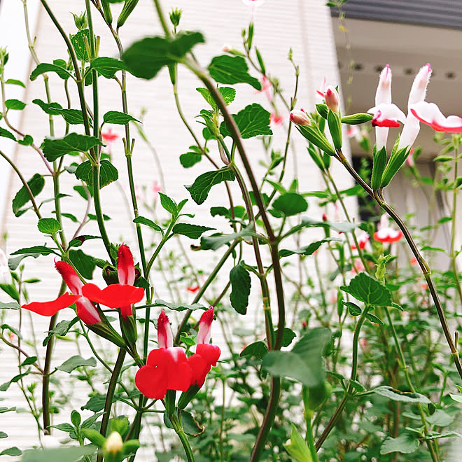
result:
M 64 293 L 50 302 L 31 302 L 22 308 L 34 311 L 42 316 L 53 316 L 60 309 L 76 304 L 77 316 L 87 325 L 102 323 L 102 316 L 95 303 L 109 308 L 120 308 L 123 318 L 132 314 L 132 304 L 144 297 L 141 287 L 134 287 L 134 262 L 130 248 L 122 244 L 118 249 L 119 283 L 111 284 L 103 290 L 92 283 L 84 284 L 69 263 L 55 262 L 55 267 L 73 295 Z

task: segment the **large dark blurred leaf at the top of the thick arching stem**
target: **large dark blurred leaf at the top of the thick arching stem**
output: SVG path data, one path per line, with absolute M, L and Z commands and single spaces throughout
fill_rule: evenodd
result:
M 200 32 L 180 32 L 174 38 L 146 37 L 133 43 L 122 59 L 134 76 L 151 79 L 163 66 L 179 62 L 197 43 L 204 43 Z

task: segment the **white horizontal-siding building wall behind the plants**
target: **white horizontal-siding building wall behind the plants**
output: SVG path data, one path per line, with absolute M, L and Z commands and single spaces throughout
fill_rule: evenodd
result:
M 20 3 L 20 2 L 18 2 Z M 35 8 L 38 6 L 37 1 L 29 0 L 29 7 Z M 64 27 L 66 33 L 75 33 L 73 26 L 73 19 L 69 10 L 73 13 L 80 13 L 82 9 L 82 2 L 50 0 L 50 7 L 57 16 L 59 22 Z M 211 57 L 220 55 L 223 45 L 226 43 L 232 48 L 240 48 L 241 46 L 241 29 L 246 27 L 249 19 L 249 10 L 239 1 L 222 1 L 217 8 L 217 3 L 214 0 L 204 0 L 201 2 L 179 0 L 179 1 L 165 1 L 163 2 L 165 11 L 169 11 L 173 6 L 183 9 L 183 19 L 181 26 L 184 29 L 200 29 L 204 32 L 207 40 L 206 45 L 198 45 L 195 49 L 197 59 L 206 66 Z M 279 2 L 267 1 L 264 6 L 259 8 L 255 15 L 255 44 L 258 45 L 262 56 L 265 59 L 267 69 L 272 76 L 277 76 L 281 82 L 281 87 L 284 89 L 286 98 L 290 99 L 294 87 L 293 68 L 287 60 L 289 48 L 293 48 L 293 56 L 295 62 L 300 64 L 300 87 L 297 95 L 297 106 L 302 106 L 305 109 L 314 107 L 314 90 L 321 84 L 321 80 L 325 76 L 329 82 L 334 85 L 339 83 L 339 75 L 337 71 L 337 59 L 335 55 L 335 45 L 332 38 L 332 30 L 330 26 L 330 14 L 328 9 L 324 6 L 323 1 L 316 0 L 310 2 L 310 7 L 307 8 L 306 2 L 298 0 L 294 2 Z M 117 6 L 114 6 L 117 9 Z M 117 13 L 114 14 L 117 18 Z M 4 19 L 4 17 L 2 18 Z M 116 56 L 116 46 L 111 40 L 109 34 L 102 25 L 97 12 L 93 13 L 95 29 L 98 34 L 102 35 L 101 47 L 99 55 Z M 23 31 L 23 20 L 19 16 L 9 16 L 8 22 L 13 24 L 16 31 Z M 35 34 L 36 52 L 41 62 L 52 62 L 52 59 L 58 57 L 66 59 L 67 53 L 59 37 L 55 27 L 46 15 L 43 8 L 38 10 L 38 20 Z M 141 1 L 133 15 L 127 21 L 125 27 L 121 31 L 122 40 L 125 46 L 130 45 L 133 41 L 147 35 L 161 34 L 160 25 L 153 9 L 153 3 L 149 1 Z M 2 43 L 0 43 L 2 45 Z M 13 53 L 12 53 L 13 54 Z M 34 64 L 31 62 L 27 50 L 15 50 L 15 54 L 20 55 L 19 62 L 27 63 L 28 72 L 34 69 Z M 18 69 L 18 68 L 16 68 Z M 8 78 L 18 78 L 14 74 L 13 67 L 6 69 Z M 9 74 L 11 73 L 11 74 Z M 254 72 L 253 72 L 254 73 Z M 255 74 L 255 73 L 254 73 Z M 50 85 L 52 100 L 65 104 L 65 95 L 62 88 L 62 80 L 57 76 L 50 74 Z M 195 122 L 195 116 L 204 108 L 204 102 L 200 94 L 195 91 L 195 88 L 200 86 L 199 81 L 191 73 L 185 69 L 179 72 L 179 95 L 183 111 L 186 118 L 193 125 L 194 130 L 200 134 L 201 125 Z M 78 99 L 76 92 L 72 89 L 72 107 L 78 109 Z M 101 108 L 100 113 L 103 114 L 109 110 L 121 110 L 120 94 L 118 86 L 112 80 L 99 79 L 99 90 L 101 92 Z M 91 89 L 87 87 L 87 98 L 91 101 Z M 174 96 L 169 82 L 167 71 L 161 71 L 155 80 L 143 81 L 129 79 L 128 83 L 128 103 L 130 112 L 134 117 L 139 117 L 143 109 L 146 109 L 146 116 L 144 118 L 144 130 L 148 134 L 149 139 L 157 152 L 161 162 L 163 175 L 165 178 L 165 192 L 179 201 L 183 198 L 189 197 L 188 192 L 184 188 L 185 184 L 193 183 L 194 179 L 207 169 L 205 162 L 193 167 L 192 169 L 185 170 L 179 163 L 179 155 L 187 151 L 188 146 L 193 144 L 193 139 L 186 128 L 181 123 L 178 113 L 174 110 Z M 27 102 L 27 109 L 15 121 L 18 123 L 20 130 L 27 134 L 31 134 L 36 141 L 36 144 L 41 144 L 43 137 L 48 134 L 48 119 L 35 104 L 31 103 L 34 98 L 45 100 L 43 90 L 43 81 L 38 78 L 32 83 L 27 85 L 24 101 Z M 232 104 L 231 109 L 237 112 L 242 109 L 248 101 L 258 102 L 269 109 L 269 104 L 265 99 L 264 93 L 256 94 L 255 91 L 247 85 L 237 85 L 237 99 Z M 283 105 L 278 102 L 278 107 L 284 116 L 284 126 L 288 125 L 288 113 L 283 109 Z M 58 118 L 55 118 L 57 126 L 57 136 L 62 134 L 64 124 Z M 79 129 L 78 126 L 73 126 L 71 129 Z M 113 130 L 122 136 L 123 131 L 120 126 L 114 126 Z M 148 190 L 152 187 L 154 181 L 161 181 L 160 172 L 153 160 L 153 153 L 144 144 L 136 134 L 134 126 L 132 126 L 132 135 L 137 139 L 134 151 L 134 176 L 140 185 L 146 185 Z M 274 127 L 274 147 L 283 149 L 285 143 L 285 131 L 279 127 Z M 295 134 L 297 135 L 297 134 Z M 0 140 L 3 141 L 3 140 Z M 21 146 L 14 146 L 12 143 L 2 145 L 3 150 L 7 155 L 15 158 L 15 162 L 20 168 L 22 174 L 29 179 L 34 172 L 46 174 L 43 163 L 38 158 L 34 151 L 30 148 Z M 261 143 L 258 140 L 245 140 L 245 146 L 251 159 L 252 167 L 259 174 L 262 168 L 258 165 L 258 160 L 262 158 Z M 113 163 L 118 168 L 120 174 L 120 186 L 111 184 L 102 190 L 102 202 L 104 204 L 104 213 L 111 216 L 112 220 L 107 222 L 107 230 L 109 238 L 113 242 L 120 243 L 127 241 L 131 245 L 135 254 L 135 259 L 138 260 L 139 253 L 137 252 L 137 244 L 134 234 L 134 225 L 132 223 L 132 213 L 127 208 L 127 174 L 125 167 L 125 158 L 123 155 L 122 141 L 119 139 L 112 146 Z M 211 155 L 219 162 L 218 153 L 211 151 Z M 66 160 L 66 163 L 69 160 Z M 20 182 L 18 178 L 11 173 L 11 170 L 3 160 L 0 162 L 1 172 L 8 174 L 8 181 L 4 181 L 3 185 L 8 185 L 5 190 L 5 203 L 3 207 L 3 221 L 2 230 L 7 235 L 6 250 L 8 253 L 15 251 L 18 248 L 34 245 L 44 244 L 45 240 L 43 235 L 40 235 L 36 230 L 36 216 L 30 211 L 19 219 L 15 218 L 11 212 L 11 200 L 15 193 L 20 189 Z M 323 189 L 323 183 L 318 175 L 317 169 L 314 169 L 311 160 L 309 159 L 304 140 L 301 137 L 294 136 L 290 146 L 290 159 L 288 162 L 288 172 L 284 184 L 288 186 L 297 172 L 300 181 L 300 191 Z M 213 168 L 213 167 L 212 167 Z M 341 187 L 348 187 L 351 185 L 349 178 L 341 174 L 341 170 L 337 166 L 332 167 L 334 174 L 339 179 Z M 72 176 L 63 174 L 61 177 L 62 190 L 64 193 L 73 195 L 73 197 L 65 198 L 62 200 L 63 209 L 71 211 L 77 217 L 83 216 L 85 211 L 85 203 L 76 195 L 72 190 L 74 183 Z M 232 185 L 236 193 L 235 185 Z M 41 193 L 42 199 L 52 196 L 50 185 L 45 187 Z M 211 219 L 209 216 L 209 207 L 214 205 L 223 204 L 224 188 L 217 186 L 214 188 L 209 199 L 207 200 L 207 207 L 197 207 L 192 200 L 189 200 L 185 211 L 189 214 L 196 214 L 193 223 L 208 224 L 213 228 L 227 232 L 225 224 L 217 218 Z M 239 195 L 235 194 L 235 197 Z M 354 204 L 351 202 L 351 208 Z M 52 216 L 52 203 L 45 204 L 41 209 L 44 217 Z M 309 209 L 309 216 L 318 218 L 321 214 L 314 203 L 311 204 Z M 160 213 L 160 217 L 165 216 Z M 65 220 L 65 219 L 64 219 Z M 65 230 L 69 237 L 73 234 L 76 225 L 70 221 L 65 221 Z M 155 237 L 150 235 L 147 228 L 144 228 L 144 239 L 146 244 L 155 241 Z M 85 234 L 97 234 L 97 228 L 93 224 L 84 228 Z M 309 239 L 309 238 L 307 238 Z M 85 243 L 83 250 L 94 256 L 104 258 L 104 251 L 96 241 Z M 49 243 L 48 243 L 49 244 Z M 190 241 L 188 239 L 183 241 L 183 245 L 188 247 Z M 303 245 L 303 242 L 300 243 Z M 171 241 L 165 251 L 172 250 L 178 246 L 177 243 Z M 213 258 L 218 260 L 218 253 L 214 253 Z M 198 268 L 204 268 L 206 271 L 211 267 L 210 253 L 195 253 L 193 255 L 194 264 Z M 251 258 L 251 256 L 249 257 Z M 249 260 L 250 261 L 250 260 Z M 59 290 L 59 276 L 53 269 L 53 262 L 51 257 L 41 257 L 37 260 L 29 258 L 25 260 L 25 276 L 38 276 L 41 282 L 31 286 L 30 295 L 33 300 L 50 300 L 57 295 Z M 229 267 L 228 267 L 229 269 Z M 228 274 L 225 270 L 225 274 Z M 95 272 L 95 278 L 99 282 L 99 275 Z M 169 293 L 162 283 L 162 277 L 155 273 L 153 275 L 153 283 L 156 290 L 156 296 L 169 300 Z M 187 284 L 184 284 L 185 286 Z M 256 281 L 253 283 L 253 291 L 258 296 L 258 284 Z M 183 288 L 184 289 L 184 288 Z M 212 294 L 209 294 L 210 296 Z M 188 299 L 185 294 L 185 299 Z M 6 295 L 0 295 L 1 301 L 6 301 Z M 253 308 L 253 313 L 248 316 L 255 316 L 257 322 L 261 321 L 261 313 L 258 308 Z M 8 322 L 13 325 L 18 324 L 18 314 L 8 312 Z M 69 319 L 69 313 L 65 311 L 59 315 L 59 320 Z M 156 315 L 154 315 L 156 316 Z M 175 316 L 173 316 L 175 317 Z M 31 342 L 32 330 L 35 331 L 38 340 L 38 356 L 43 360 L 45 349 L 41 347 L 41 340 L 44 337 L 43 332 L 48 329 L 48 318 L 42 318 L 34 314 L 22 315 L 22 330 L 24 332 L 24 347 L 30 349 L 27 343 Z M 175 321 L 174 321 L 174 325 Z M 214 333 L 215 342 L 223 346 L 224 340 L 218 332 Z M 103 348 L 103 346 L 102 346 Z M 65 358 L 72 354 L 76 354 L 76 346 L 73 342 L 58 342 L 56 349 L 56 358 L 53 360 L 52 367 L 59 365 Z M 18 358 L 12 353 L 10 349 L 4 348 L 0 345 L 1 355 L 3 357 L 6 367 L 0 369 L 0 383 L 8 381 L 16 373 L 16 365 Z M 114 351 L 109 350 L 107 345 L 104 346 L 104 352 L 107 356 L 111 356 Z M 82 355 L 87 357 L 89 352 L 84 349 Z M 57 372 L 64 375 L 64 373 Z M 61 376 L 62 377 L 62 376 Z M 75 386 L 73 389 L 73 396 L 78 395 L 78 390 L 82 389 L 82 385 L 74 383 L 69 387 Z M 52 385 L 52 389 L 59 392 Z M 103 389 L 103 387 L 102 387 Z M 25 407 L 25 402 L 22 398 L 20 390 L 17 386 L 12 385 L 8 393 L 2 393 L 0 398 L 5 398 L 1 402 L 2 406 L 17 406 Z M 83 404 L 83 403 L 78 403 Z M 69 405 L 62 406 L 62 412 L 54 416 L 53 423 L 61 421 L 69 421 L 69 413 L 71 408 Z M 0 430 L 7 430 L 9 437 L 0 440 L 0 451 L 6 447 L 17 445 L 18 447 L 25 447 L 37 443 L 36 426 L 33 419 L 25 416 L 25 414 L 6 413 L 2 414 Z M 59 435 L 61 436 L 61 435 Z M 144 460 L 152 460 L 152 454 L 147 453 Z M 0 456 L 1 459 L 1 456 Z M 11 460 L 8 458 L 8 460 Z

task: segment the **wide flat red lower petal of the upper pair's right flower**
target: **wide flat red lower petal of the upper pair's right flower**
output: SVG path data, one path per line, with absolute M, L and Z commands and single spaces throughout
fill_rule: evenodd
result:
M 105 307 L 120 308 L 139 302 L 144 297 L 144 289 L 127 284 L 111 284 L 101 290 L 95 284 L 89 283 L 83 286 L 82 294 Z

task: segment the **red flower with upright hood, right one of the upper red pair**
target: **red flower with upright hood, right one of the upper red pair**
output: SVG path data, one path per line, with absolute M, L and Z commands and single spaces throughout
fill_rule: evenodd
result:
M 135 269 L 133 255 L 130 248 L 125 244 L 119 247 L 117 252 L 118 284 L 111 284 L 101 290 L 97 285 L 89 283 L 83 286 L 83 295 L 93 302 L 104 304 L 109 308 L 120 308 L 123 318 L 133 314 L 132 304 L 139 302 L 144 297 L 141 287 L 134 287 Z

